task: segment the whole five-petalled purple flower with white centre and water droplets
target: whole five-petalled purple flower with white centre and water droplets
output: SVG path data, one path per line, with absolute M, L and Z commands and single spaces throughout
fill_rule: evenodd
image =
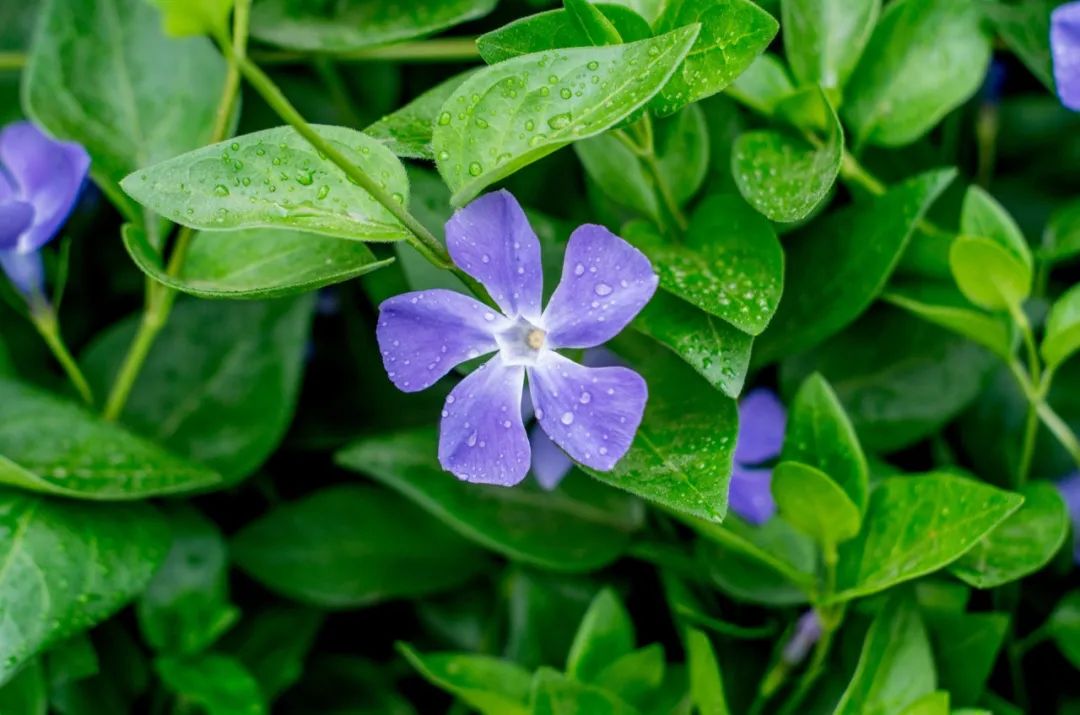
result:
M 562 281 L 541 311 L 540 242 L 510 193 L 488 193 L 458 211 L 446 224 L 446 245 L 499 310 L 453 291 L 407 293 L 379 307 L 376 330 L 387 374 L 405 392 L 496 353 L 446 399 L 443 468 L 467 482 L 511 486 L 525 477 L 528 375 L 540 428 L 576 461 L 611 470 L 642 421 L 645 380 L 625 367 L 584 367 L 555 351 L 592 348 L 621 332 L 657 289 L 648 258 L 602 226 L 580 226 L 567 244 Z

